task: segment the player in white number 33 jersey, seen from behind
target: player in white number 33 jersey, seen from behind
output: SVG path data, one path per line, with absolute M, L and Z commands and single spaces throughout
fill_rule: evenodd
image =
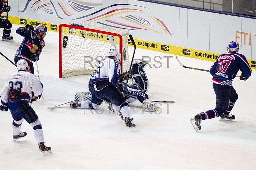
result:
M 1 110 L 12 113 L 13 141 L 23 138 L 26 132 L 20 131 L 23 120 L 34 129 L 34 136 L 41 152 L 51 153 L 51 148 L 44 145 L 44 134 L 41 122 L 29 102 L 36 101 L 42 96 L 43 84 L 28 72 L 28 63 L 21 59 L 17 62 L 18 72 L 10 75 L 2 89 Z

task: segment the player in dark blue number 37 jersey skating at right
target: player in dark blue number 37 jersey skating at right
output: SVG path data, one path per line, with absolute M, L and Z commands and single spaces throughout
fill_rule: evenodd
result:
M 213 110 L 201 112 L 190 118 L 190 121 L 196 131 L 201 129 L 201 121 L 220 116 L 220 121 L 235 120 L 235 115 L 229 114 L 238 95 L 232 86 L 232 80 L 237 72 L 242 71 L 240 80 L 247 80 L 252 73 L 244 55 L 237 53 L 239 44 L 232 41 L 227 46 L 228 53 L 221 54 L 210 68 L 212 74 L 212 86 L 216 94 L 216 106 Z

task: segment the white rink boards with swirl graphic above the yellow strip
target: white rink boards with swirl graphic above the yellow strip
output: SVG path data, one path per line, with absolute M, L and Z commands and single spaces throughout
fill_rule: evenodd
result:
M 72 3 L 90 8 L 81 12 Z M 47 10 L 39 8 L 48 4 Z M 240 52 L 255 59 L 255 19 L 217 14 L 136 0 L 94 1 L 10 1 L 9 16 L 29 18 L 54 24 L 91 22 L 128 29 L 135 39 L 222 54 L 230 41 L 237 39 Z M 38 8 L 38 9 L 37 9 Z M 74 10 L 74 8 L 76 10 Z M 112 12 L 111 14 L 108 14 Z M 102 16 L 101 16 L 102 15 Z M 94 18 L 97 19 L 94 19 Z M 90 20 L 91 19 L 91 20 Z M 115 22 L 116 24 L 113 24 Z M 170 33 L 169 33 L 169 32 Z M 251 45 L 249 35 L 251 34 Z

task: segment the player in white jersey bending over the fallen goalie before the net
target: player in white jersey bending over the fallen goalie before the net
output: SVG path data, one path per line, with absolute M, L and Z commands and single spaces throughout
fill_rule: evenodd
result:
M 115 104 L 121 109 L 123 120 L 127 128 L 135 127 L 132 123 L 129 105 L 126 102 L 128 89 L 121 83 L 123 77 L 131 76 L 131 72 L 121 75 L 121 66 L 117 61 L 116 47 L 110 47 L 108 57 L 103 58 L 98 66 L 95 78 L 91 82 L 91 87 L 96 97 L 108 103 Z M 124 80 L 124 79 L 123 79 Z

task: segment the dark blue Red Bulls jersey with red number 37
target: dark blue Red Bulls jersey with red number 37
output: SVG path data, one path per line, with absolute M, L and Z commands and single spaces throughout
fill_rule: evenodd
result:
M 212 82 L 220 85 L 232 86 L 232 79 L 236 77 L 238 70 L 242 71 L 246 78 L 252 74 L 252 69 L 246 58 L 238 53 L 221 54 L 210 68 Z

